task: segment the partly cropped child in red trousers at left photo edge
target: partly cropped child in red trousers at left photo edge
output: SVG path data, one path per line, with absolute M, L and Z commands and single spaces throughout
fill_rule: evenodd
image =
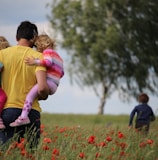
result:
M 8 48 L 10 46 L 9 42 L 6 40 L 5 37 L 0 36 L 0 50 Z M 3 71 L 3 64 L 0 63 L 0 73 Z M 5 129 L 5 125 L 1 118 L 1 113 L 3 107 L 7 101 L 7 95 L 5 94 L 4 90 L 1 88 L 1 74 L 0 74 L 0 129 Z

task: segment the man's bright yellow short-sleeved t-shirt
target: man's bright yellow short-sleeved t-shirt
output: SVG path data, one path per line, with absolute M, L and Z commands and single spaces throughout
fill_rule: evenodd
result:
M 26 65 L 24 58 L 30 56 L 43 58 L 40 52 L 24 46 L 13 46 L 0 51 L 0 62 L 4 65 L 2 88 L 8 97 L 4 108 L 23 108 L 27 93 L 37 83 L 35 72 L 46 71 L 41 66 Z M 37 99 L 34 100 L 32 109 L 41 111 Z

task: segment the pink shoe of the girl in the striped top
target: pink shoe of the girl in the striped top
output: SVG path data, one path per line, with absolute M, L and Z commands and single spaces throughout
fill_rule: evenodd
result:
M 18 117 L 14 122 L 10 123 L 11 127 L 17 127 L 17 126 L 22 126 L 22 125 L 26 125 L 30 123 L 30 119 L 27 118 L 22 118 L 22 117 Z

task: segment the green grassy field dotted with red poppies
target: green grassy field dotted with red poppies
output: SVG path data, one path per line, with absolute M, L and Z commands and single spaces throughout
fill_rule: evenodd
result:
M 127 115 L 42 114 L 38 148 L 25 138 L 0 146 L 2 160 L 158 160 L 157 119 L 147 136 L 128 128 Z

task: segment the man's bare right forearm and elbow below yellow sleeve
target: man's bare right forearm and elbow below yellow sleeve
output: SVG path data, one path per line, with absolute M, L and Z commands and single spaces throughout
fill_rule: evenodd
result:
M 42 70 L 37 71 L 36 78 L 38 84 L 38 97 L 41 100 L 45 100 L 49 95 L 49 88 L 46 81 L 46 72 Z

